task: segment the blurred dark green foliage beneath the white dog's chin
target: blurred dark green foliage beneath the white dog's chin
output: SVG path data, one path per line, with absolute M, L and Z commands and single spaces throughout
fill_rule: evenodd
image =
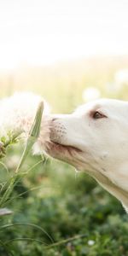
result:
M 119 202 L 57 160 L 29 156 L 25 172 L 35 163 L 15 186 L 8 205 L 13 214 L 0 219 L 0 254 L 127 255 L 128 218 Z

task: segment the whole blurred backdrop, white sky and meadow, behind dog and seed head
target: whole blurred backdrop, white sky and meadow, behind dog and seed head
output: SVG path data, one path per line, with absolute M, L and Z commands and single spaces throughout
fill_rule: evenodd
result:
M 126 0 L 1 1 L 1 98 L 31 90 L 44 96 L 52 113 L 71 113 L 99 97 L 127 101 L 127 13 Z M 9 148 L 3 160 L 9 173 L 22 147 Z M 125 211 L 94 180 L 41 156 L 30 155 L 24 168 L 32 169 L 15 188 L 13 214 L 0 219 L 17 224 L 0 232 L 9 255 L 128 255 Z M 3 166 L 0 172 L 6 180 Z M 74 239 L 45 251 L 34 239 L 50 244 L 49 237 L 28 224 L 54 241 Z M 8 255 L 2 245 L 0 253 Z

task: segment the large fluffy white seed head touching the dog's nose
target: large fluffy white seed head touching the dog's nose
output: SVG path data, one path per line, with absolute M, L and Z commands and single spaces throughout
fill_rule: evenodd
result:
M 35 153 L 39 153 L 44 144 L 49 142 L 49 105 L 41 96 L 32 92 L 17 92 L 14 96 L 1 100 L 0 137 L 8 137 L 9 132 L 20 132 L 27 137 L 41 101 L 44 102 L 44 113 L 38 143 L 34 147 Z

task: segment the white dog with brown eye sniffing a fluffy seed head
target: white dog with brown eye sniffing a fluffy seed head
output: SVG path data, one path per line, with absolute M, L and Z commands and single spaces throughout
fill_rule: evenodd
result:
M 128 102 L 87 103 L 50 125 L 47 152 L 90 174 L 128 211 Z

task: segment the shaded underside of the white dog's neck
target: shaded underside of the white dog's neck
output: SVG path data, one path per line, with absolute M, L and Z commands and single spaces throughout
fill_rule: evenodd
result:
M 114 195 L 123 205 L 125 211 L 128 212 L 128 192 L 122 188 L 119 188 L 116 184 L 114 184 L 108 177 L 103 175 L 101 172 L 93 172 L 91 176 L 96 179 L 98 183 L 102 185 L 102 187 L 112 195 Z

